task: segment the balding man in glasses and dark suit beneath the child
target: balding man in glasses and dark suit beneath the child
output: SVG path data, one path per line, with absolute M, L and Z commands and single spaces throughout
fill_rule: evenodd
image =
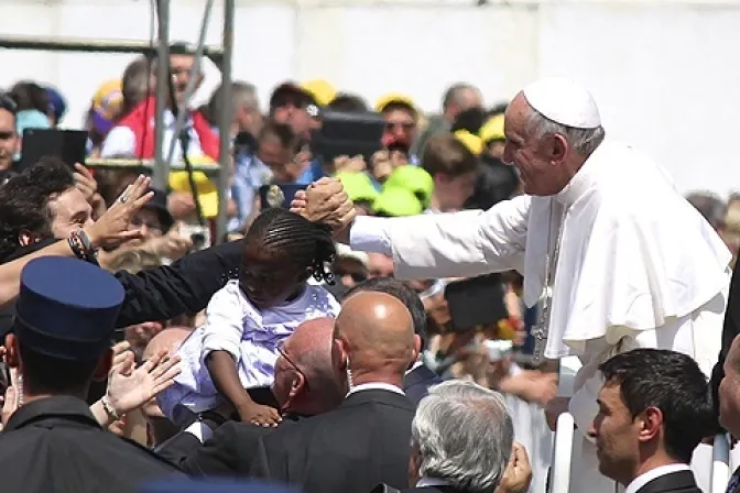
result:
M 334 319 L 316 318 L 301 324 L 281 347 L 272 387 L 283 416 L 279 427 L 327 413 L 344 399 L 331 362 L 333 340 Z M 261 450 L 255 439 L 273 428 L 227 421 L 224 414 L 202 416 L 157 452 L 196 475 L 266 475 L 264 462 L 255 462 Z

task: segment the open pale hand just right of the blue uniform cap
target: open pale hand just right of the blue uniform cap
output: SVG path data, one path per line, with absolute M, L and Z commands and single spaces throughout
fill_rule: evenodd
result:
M 133 370 L 134 359 L 130 351 L 116 354 L 108 375 L 108 399 L 119 416 L 137 409 L 175 383 L 179 374 L 179 357 L 168 357 L 163 349 L 141 366 Z

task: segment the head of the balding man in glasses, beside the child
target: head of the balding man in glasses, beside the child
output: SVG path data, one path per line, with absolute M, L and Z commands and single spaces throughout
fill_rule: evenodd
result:
M 273 385 L 282 410 L 316 415 L 341 403 L 344 393 L 331 364 L 333 336 L 334 319 L 322 317 L 304 321 L 285 339 Z

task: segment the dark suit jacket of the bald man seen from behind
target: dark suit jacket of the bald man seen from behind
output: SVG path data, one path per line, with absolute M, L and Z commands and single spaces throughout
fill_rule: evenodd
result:
M 268 476 L 305 493 L 369 492 L 407 486 L 414 406 L 391 391 L 351 394 L 335 410 L 264 430 L 221 426 L 184 462 L 195 474 Z

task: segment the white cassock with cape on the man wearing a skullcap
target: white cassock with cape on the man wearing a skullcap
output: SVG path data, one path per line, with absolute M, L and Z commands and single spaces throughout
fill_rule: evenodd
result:
M 583 362 L 569 408 L 581 432 L 598 410 L 597 368 L 610 357 L 673 349 L 710 375 L 719 354 L 730 252 L 661 167 L 616 141 L 605 140 L 556 196 L 520 196 L 487 211 L 360 217 L 350 243 L 392 255 L 399 278 L 516 270 L 530 307 L 553 280 L 545 357 Z M 583 450 L 572 492 L 613 491 L 601 484 L 592 446 Z

